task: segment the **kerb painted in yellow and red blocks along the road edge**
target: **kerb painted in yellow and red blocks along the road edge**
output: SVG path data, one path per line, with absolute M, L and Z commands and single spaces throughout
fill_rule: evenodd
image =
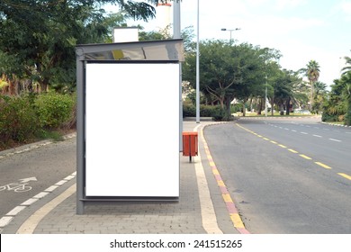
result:
M 206 125 L 206 126 L 209 126 L 209 125 Z M 207 159 L 211 166 L 212 175 L 214 175 L 217 185 L 220 187 L 221 196 L 223 198 L 223 201 L 226 204 L 227 210 L 229 211 L 230 220 L 232 221 L 234 228 L 237 229 L 240 234 L 249 234 L 250 232 L 245 228 L 245 225 L 238 213 L 238 208 L 235 205 L 232 197 L 230 196 L 229 191 L 227 190 L 226 184 L 224 183 L 223 179 L 220 176 L 220 171 L 218 170 L 216 164 L 213 161 L 213 158 L 211 157 L 210 148 L 207 145 L 206 139 L 204 138 L 204 135 L 203 135 L 203 129 L 204 128 L 201 129 L 202 143 L 206 152 Z

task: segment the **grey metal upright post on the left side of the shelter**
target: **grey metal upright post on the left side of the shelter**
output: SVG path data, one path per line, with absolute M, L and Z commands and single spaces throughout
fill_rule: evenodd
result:
M 84 61 L 83 50 L 76 49 L 76 214 L 84 214 Z

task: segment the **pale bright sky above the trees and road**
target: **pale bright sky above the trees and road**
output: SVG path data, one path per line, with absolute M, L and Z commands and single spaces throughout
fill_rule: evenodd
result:
M 181 27 L 197 31 L 197 0 L 181 2 Z M 159 17 L 158 17 L 159 19 Z M 289 70 L 320 64 L 320 81 L 332 85 L 351 57 L 351 0 L 199 0 L 199 39 L 247 42 L 278 49 L 279 63 Z M 159 20 L 141 24 L 157 31 Z M 201 58 L 200 58 L 201 60 Z

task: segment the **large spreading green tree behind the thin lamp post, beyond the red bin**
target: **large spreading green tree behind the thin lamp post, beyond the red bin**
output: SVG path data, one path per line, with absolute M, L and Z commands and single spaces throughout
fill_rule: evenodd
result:
M 200 90 L 209 103 L 220 103 L 230 117 L 230 102 L 237 98 L 244 106 L 250 97 L 264 94 L 265 60 L 269 49 L 251 44 L 230 45 L 223 40 L 205 40 L 200 44 Z M 184 80 L 195 85 L 195 52 L 186 54 Z M 245 109 L 244 109 L 245 112 Z

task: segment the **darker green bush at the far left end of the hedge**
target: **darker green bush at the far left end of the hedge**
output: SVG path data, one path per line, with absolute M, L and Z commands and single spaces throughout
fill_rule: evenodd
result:
M 31 139 L 39 129 L 33 97 L 0 96 L 0 140 L 3 145 L 9 140 L 23 142 Z

